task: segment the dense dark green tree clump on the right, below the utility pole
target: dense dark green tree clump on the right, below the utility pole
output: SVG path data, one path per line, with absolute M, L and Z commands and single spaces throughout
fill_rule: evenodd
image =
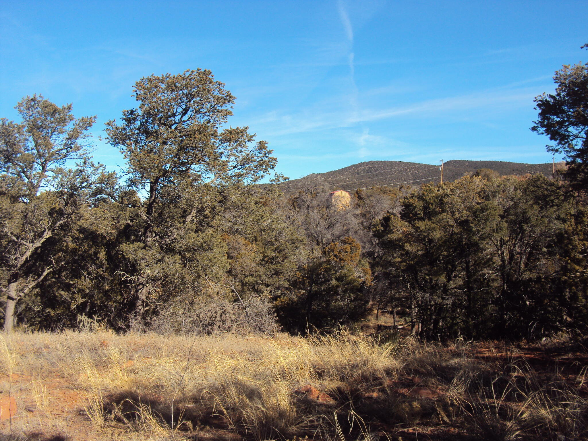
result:
M 586 325 L 586 209 L 542 175 L 427 185 L 375 234 L 379 268 L 427 338 L 538 336 Z

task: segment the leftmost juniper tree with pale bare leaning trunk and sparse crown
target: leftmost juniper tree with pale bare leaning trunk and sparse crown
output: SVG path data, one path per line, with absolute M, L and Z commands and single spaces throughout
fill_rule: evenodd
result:
M 71 104 L 59 107 L 41 95 L 27 96 L 16 109 L 22 123 L 2 118 L 0 124 L 6 331 L 14 325 L 18 300 L 62 265 L 67 230 L 96 195 L 96 173 L 106 176 L 89 162 L 85 145 L 95 116 L 76 119 Z

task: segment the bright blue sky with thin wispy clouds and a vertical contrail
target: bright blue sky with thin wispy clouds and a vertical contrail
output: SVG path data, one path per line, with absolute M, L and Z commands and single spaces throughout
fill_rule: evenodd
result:
M 0 1 L 0 116 L 103 123 L 145 75 L 211 69 L 290 178 L 371 160 L 549 162 L 533 97 L 588 59 L 586 1 Z M 97 138 L 95 159 L 118 151 Z

